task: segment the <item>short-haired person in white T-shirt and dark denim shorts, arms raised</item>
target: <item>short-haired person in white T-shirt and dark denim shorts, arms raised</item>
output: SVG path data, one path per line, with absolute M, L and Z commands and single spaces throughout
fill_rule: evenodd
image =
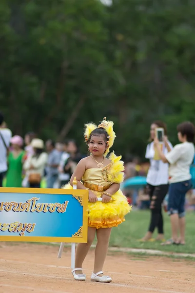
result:
M 183 122 L 177 126 L 178 140 L 168 154 L 163 154 L 159 142 L 155 139 L 158 154 L 164 163 L 169 163 L 168 214 L 171 218 L 172 238 L 164 244 L 185 244 L 185 195 L 192 188 L 190 166 L 195 156 L 195 126 Z M 178 237 L 178 234 L 179 237 Z

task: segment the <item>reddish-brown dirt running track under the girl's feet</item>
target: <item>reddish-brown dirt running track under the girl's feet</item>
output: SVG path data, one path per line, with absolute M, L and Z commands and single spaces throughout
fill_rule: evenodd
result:
M 193 293 L 195 262 L 165 257 L 107 256 L 104 272 L 111 284 L 90 282 L 94 250 L 84 273 L 87 281 L 74 281 L 69 248 L 58 259 L 58 247 L 25 243 L 0 243 L 0 293 Z

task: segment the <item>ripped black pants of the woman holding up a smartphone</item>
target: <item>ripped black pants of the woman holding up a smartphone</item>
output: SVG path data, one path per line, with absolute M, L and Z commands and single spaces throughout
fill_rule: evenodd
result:
M 168 192 L 169 185 L 158 185 L 153 186 L 148 184 L 146 187 L 147 194 L 150 196 L 150 210 L 151 210 L 151 219 L 149 231 L 154 232 L 157 227 L 158 233 L 163 234 L 163 217 L 162 217 L 162 202 Z

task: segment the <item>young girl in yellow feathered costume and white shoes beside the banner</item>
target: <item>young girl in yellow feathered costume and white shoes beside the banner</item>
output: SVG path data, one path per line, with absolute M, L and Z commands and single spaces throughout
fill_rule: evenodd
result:
M 106 158 L 116 137 L 113 122 L 104 118 L 98 127 L 93 123 L 86 124 L 84 136 L 91 154 L 78 163 L 70 184 L 64 187 L 72 188 L 73 179 L 76 177 L 78 189 L 89 189 L 88 241 L 77 245 L 76 269 L 72 273 L 75 280 L 85 281 L 82 263 L 97 234 L 98 243 L 91 281 L 110 283 L 111 277 L 103 275 L 102 268 L 111 230 L 125 221 L 124 216 L 131 210 L 126 197 L 119 189 L 123 181 L 124 166 L 120 161 L 121 156 L 117 157 L 114 152 Z M 102 202 L 98 201 L 99 197 L 102 198 Z

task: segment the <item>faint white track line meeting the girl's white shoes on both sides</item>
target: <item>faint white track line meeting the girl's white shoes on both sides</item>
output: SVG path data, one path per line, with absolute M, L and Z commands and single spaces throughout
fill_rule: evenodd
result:
M 53 279 L 63 279 L 63 280 L 71 280 L 74 281 L 72 278 L 64 278 L 64 277 L 57 277 L 53 275 L 46 275 L 46 274 L 36 274 L 36 273 L 28 273 L 28 272 L 13 272 L 13 271 L 6 271 L 6 270 L 0 270 L 0 272 L 8 272 L 8 273 L 15 273 L 20 275 L 29 275 L 29 276 L 38 276 L 39 278 L 45 277 L 45 278 L 53 278 Z M 107 286 L 114 286 L 114 287 L 123 287 L 123 288 L 131 288 L 131 289 L 137 289 L 137 290 L 144 290 L 144 291 L 154 291 L 158 293 L 181 293 L 178 291 L 170 291 L 170 290 L 161 290 L 161 289 L 155 289 L 155 288 L 145 288 L 145 287 L 139 287 L 139 286 L 133 286 L 133 285 L 125 285 L 125 284 L 117 284 L 117 283 L 99 283 L 101 285 L 107 285 Z M 185 293 L 185 292 L 182 292 Z

